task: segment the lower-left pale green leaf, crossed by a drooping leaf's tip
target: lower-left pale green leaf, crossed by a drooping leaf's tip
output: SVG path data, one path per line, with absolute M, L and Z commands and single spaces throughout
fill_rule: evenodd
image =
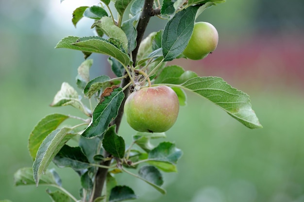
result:
M 15 185 L 35 185 L 33 168 L 20 168 L 14 174 Z M 54 169 L 47 169 L 41 176 L 39 185 L 59 185 L 61 180 Z

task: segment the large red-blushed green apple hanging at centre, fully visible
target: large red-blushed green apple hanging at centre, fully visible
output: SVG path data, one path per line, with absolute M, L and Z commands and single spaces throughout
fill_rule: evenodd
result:
M 179 111 L 176 93 L 166 85 L 131 93 L 124 104 L 128 124 L 136 131 L 162 133 L 175 123 Z

